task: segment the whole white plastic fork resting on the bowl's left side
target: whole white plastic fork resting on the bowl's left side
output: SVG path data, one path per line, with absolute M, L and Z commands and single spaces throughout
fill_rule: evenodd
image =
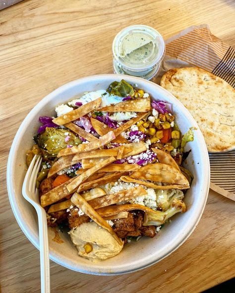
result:
M 47 215 L 39 202 L 36 180 L 42 162 L 40 155 L 35 155 L 24 178 L 22 194 L 36 209 L 39 226 L 41 292 L 50 293 L 50 260 L 47 230 Z

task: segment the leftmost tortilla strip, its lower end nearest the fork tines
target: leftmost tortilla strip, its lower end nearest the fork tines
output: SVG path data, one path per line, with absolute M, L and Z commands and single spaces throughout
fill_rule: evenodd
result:
M 50 190 L 48 193 L 41 196 L 41 206 L 45 207 L 49 204 L 52 204 L 67 195 L 72 194 L 74 191 L 68 192 L 67 185 L 70 184 L 73 180 L 77 177 L 71 178 L 68 181 L 64 182 L 63 184 L 59 185 L 58 187 Z

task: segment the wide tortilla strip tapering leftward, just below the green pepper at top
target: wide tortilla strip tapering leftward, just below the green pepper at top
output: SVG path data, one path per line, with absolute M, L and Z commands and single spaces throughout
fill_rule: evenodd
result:
M 99 111 L 106 112 L 147 112 L 151 110 L 151 100 L 148 98 L 135 98 L 114 105 L 102 107 Z

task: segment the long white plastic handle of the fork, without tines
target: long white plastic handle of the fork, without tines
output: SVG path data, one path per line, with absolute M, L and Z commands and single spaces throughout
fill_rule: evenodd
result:
M 36 208 L 39 226 L 41 292 L 50 293 L 50 259 L 46 212 Z

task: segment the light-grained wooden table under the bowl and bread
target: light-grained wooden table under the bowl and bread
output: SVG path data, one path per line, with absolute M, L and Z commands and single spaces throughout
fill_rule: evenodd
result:
M 196 24 L 235 46 L 233 0 L 25 0 L 0 11 L 0 282 L 40 291 L 39 252 L 18 227 L 5 184 L 7 156 L 26 114 L 59 86 L 112 73 L 112 41 L 131 24 L 165 39 Z M 124 276 L 90 276 L 51 262 L 52 292 L 196 293 L 235 277 L 235 203 L 210 192 L 198 227 L 173 254 Z

